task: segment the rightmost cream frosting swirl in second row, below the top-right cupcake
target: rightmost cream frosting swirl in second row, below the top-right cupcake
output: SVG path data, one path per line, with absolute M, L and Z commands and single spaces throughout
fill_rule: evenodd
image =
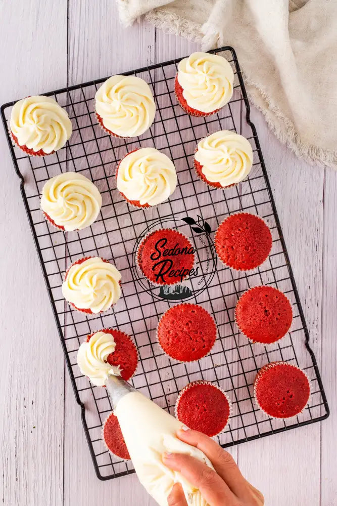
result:
M 225 187 L 248 176 L 253 164 L 253 150 L 242 135 L 220 130 L 198 143 L 195 158 L 210 183 L 220 183 Z

